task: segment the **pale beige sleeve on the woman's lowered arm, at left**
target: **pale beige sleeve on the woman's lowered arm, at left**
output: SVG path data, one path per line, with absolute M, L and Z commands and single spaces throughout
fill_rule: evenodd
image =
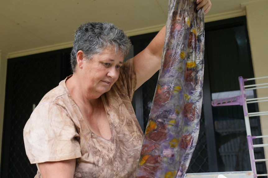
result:
M 31 164 L 81 157 L 75 124 L 57 103 L 37 106 L 25 124 L 23 137 Z

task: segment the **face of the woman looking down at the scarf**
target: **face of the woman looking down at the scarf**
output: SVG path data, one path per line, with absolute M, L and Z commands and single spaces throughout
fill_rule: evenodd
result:
M 99 97 L 109 91 L 119 76 L 119 68 L 124 57 L 114 54 L 114 50 L 106 48 L 101 54 L 94 54 L 92 59 L 83 59 L 81 78 L 87 95 Z M 85 93 L 84 93 L 85 94 Z

